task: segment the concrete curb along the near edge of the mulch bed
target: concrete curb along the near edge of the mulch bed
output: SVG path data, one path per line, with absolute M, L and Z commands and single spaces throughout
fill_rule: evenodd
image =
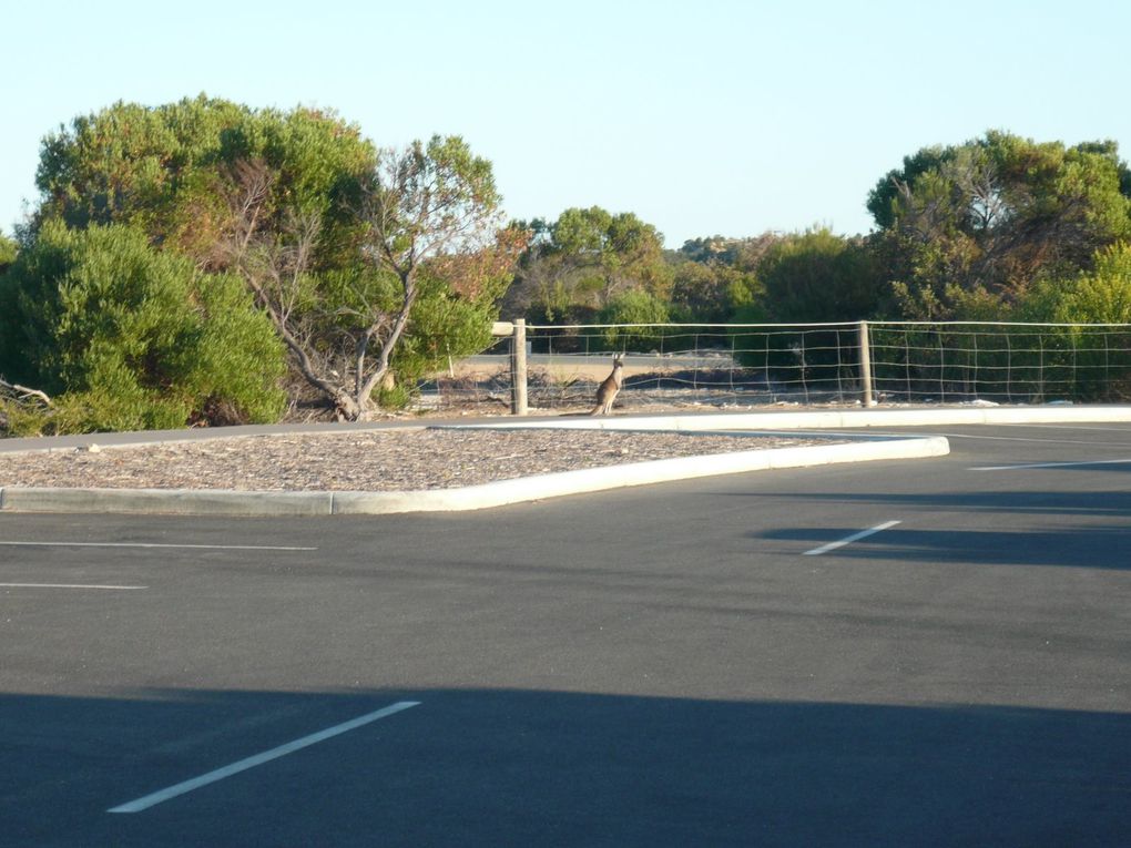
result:
M 834 462 L 940 457 L 942 436 L 869 438 L 811 448 L 713 453 L 421 492 L 231 492 L 153 488 L 0 488 L 0 511 L 316 517 L 451 512 L 677 479 Z

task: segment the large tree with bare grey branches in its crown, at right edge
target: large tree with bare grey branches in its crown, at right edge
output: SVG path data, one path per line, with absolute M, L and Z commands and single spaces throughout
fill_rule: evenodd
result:
M 987 132 L 907 157 L 867 207 L 903 310 L 946 318 L 964 296 L 1009 304 L 1043 276 L 1087 269 L 1097 250 L 1131 236 L 1129 188 L 1114 142 Z

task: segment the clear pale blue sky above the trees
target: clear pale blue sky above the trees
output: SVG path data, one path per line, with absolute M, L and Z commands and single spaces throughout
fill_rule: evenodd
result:
M 201 92 L 463 136 L 510 216 L 632 211 L 667 246 L 864 233 L 905 155 L 988 129 L 1131 158 L 1125 0 L 55 0 L 6 8 L 0 228 L 44 135 Z

